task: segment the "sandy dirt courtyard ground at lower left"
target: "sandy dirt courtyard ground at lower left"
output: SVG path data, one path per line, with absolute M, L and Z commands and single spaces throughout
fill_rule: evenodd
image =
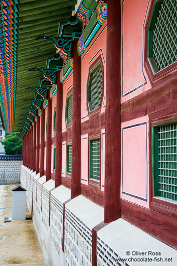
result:
M 26 208 L 26 221 L 10 221 L 12 217 L 12 189 L 18 185 L 0 185 L 0 265 L 42 263 L 43 253 L 31 215 Z

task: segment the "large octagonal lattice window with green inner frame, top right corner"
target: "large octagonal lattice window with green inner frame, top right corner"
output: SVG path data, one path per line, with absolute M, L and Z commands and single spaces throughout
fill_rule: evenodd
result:
M 148 28 L 148 57 L 154 72 L 177 61 L 177 1 L 158 0 Z

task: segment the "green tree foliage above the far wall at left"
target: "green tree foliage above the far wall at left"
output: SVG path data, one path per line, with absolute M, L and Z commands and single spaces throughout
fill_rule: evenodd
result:
M 6 133 L 5 140 L 1 142 L 6 154 L 22 154 L 22 140 L 17 132 Z

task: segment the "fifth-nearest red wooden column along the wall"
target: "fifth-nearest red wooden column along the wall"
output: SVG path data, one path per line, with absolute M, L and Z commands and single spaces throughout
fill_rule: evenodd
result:
M 40 156 L 40 177 L 44 176 L 44 142 L 45 142 L 45 109 L 41 108 L 41 156 Z

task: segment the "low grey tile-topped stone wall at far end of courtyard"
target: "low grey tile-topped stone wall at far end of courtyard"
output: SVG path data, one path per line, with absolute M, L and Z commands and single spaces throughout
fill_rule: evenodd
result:
M 20 183 L 22 159 L 19 155 L 0 156 L 0 184 Z

